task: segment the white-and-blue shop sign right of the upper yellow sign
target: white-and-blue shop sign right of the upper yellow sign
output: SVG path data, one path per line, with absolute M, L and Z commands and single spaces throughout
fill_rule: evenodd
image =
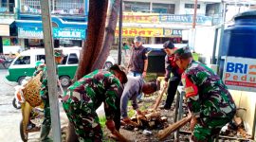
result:
M 173 15 L 173 14 L 160 14 L 159 21 L 161 23 L 183 23 L 192 24 L 192 15 Z M 210 16 L 196 16 L 196 25 L 211 26 Z

